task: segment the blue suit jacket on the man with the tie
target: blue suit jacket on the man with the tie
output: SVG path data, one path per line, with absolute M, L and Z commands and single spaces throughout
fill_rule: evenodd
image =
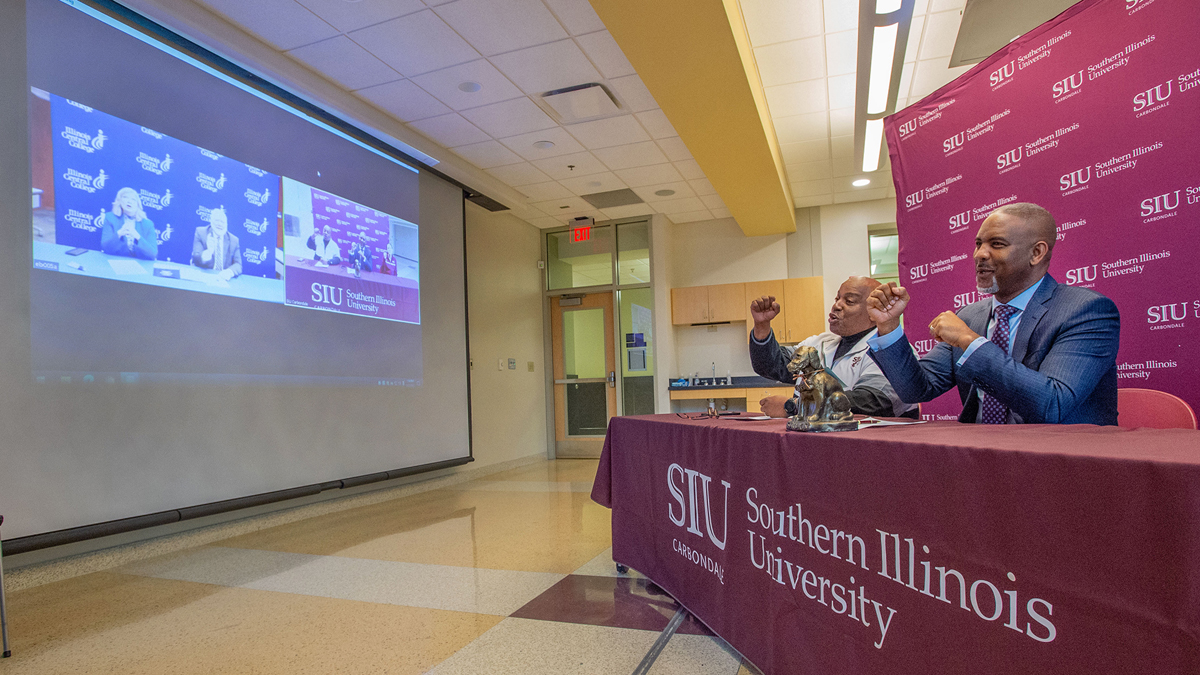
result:
M 979 335 L 988 334 L 990 315 L 990 298 L 958 312 Z M 978 388 L 1008 406 L 1009 424 L 1116 424 L 1120 334 L 1112 300 L 1048 274 L 1025 307 L 1012 356 L 985 342 L 959 368 L 962 350 L 938 342 L 918 362 L 906 338 L 871 358 L 907 402 L 932 400 L 956 384 L 959 422 L 976 420 Z

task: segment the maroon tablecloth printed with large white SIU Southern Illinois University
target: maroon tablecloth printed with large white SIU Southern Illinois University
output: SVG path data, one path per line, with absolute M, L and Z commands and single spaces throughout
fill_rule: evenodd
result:
M 592 497 L 767 674 L 1200 673 L 1196 431 L 619 417 Z

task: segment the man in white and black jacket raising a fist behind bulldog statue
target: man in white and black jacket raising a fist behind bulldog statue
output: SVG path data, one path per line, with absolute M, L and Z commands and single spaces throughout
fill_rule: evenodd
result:
M 796 347 L 784 347 L 775 341 L 770 319 L 779 316 L 779 303 L 764 295 L 750 303 L 754 331 L 750 334 L 750 364 L 754 371 L 768 380 L 792 383 L 787 363 L 799 347 L 816 347 L 821 358 L 841 381 L 850 410 L 858 414 L 881 417 L 911 417 L 917 406 L 901 401 L 875 362 L 866 358 L 866 339 L 875 335 L 875 324 L 866 316 L 866 297 L 880 285 L 866 276 L 851 276 L 841 287 L 829 309 L 829 333 L 805 339 Z M 772 417 L 794 414 L 791 396 L 767 396 L 760 407 Z

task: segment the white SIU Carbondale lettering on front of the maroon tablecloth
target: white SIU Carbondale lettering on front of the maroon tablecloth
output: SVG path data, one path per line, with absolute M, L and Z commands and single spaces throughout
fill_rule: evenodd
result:
M 700 537 L 704 539 L 704 534 L 708 534 L 708 540 L 713 543 L 720 550 L 725 550 L 725 544 L 728 542 L 730 534 L 730 484 L 727 480 L 721 480 L 721 486 L 725 488 L 722 491 L 722 508 L 718 514 L 721 521 L 721 536 L 718 537 L 715 528 L 713 527 L 713 495 L 712 490 L 713 479 L 703 473 L 684 468 L 678 464 L 672 464 L 667 467 L 667 489 L 671 490 L 672 501 L 667 504 L 667 518 L 671 519 L 677 527 L 684 527 L 689 534 Z M 676 509 L 678 508 L 678 514 Z M 703 520 L 704 530 L 700 528 L 701 521 L 701 509 L 703 508 Z M 672 549 L 682 555 L 683 557 L 690 560 L 692 563 L 702 567 L 703 569 L 716 575 L 718 580 L 725 583 L 725 569 L 713 558 L 704 555 L 703 552 L 689 546 L 679 539 L 672 542 Z

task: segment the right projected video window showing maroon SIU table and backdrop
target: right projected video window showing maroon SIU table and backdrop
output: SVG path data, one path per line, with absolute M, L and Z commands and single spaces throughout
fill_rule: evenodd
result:
M 283 179 L 286 303 L 421 322 L 416 225 Z

